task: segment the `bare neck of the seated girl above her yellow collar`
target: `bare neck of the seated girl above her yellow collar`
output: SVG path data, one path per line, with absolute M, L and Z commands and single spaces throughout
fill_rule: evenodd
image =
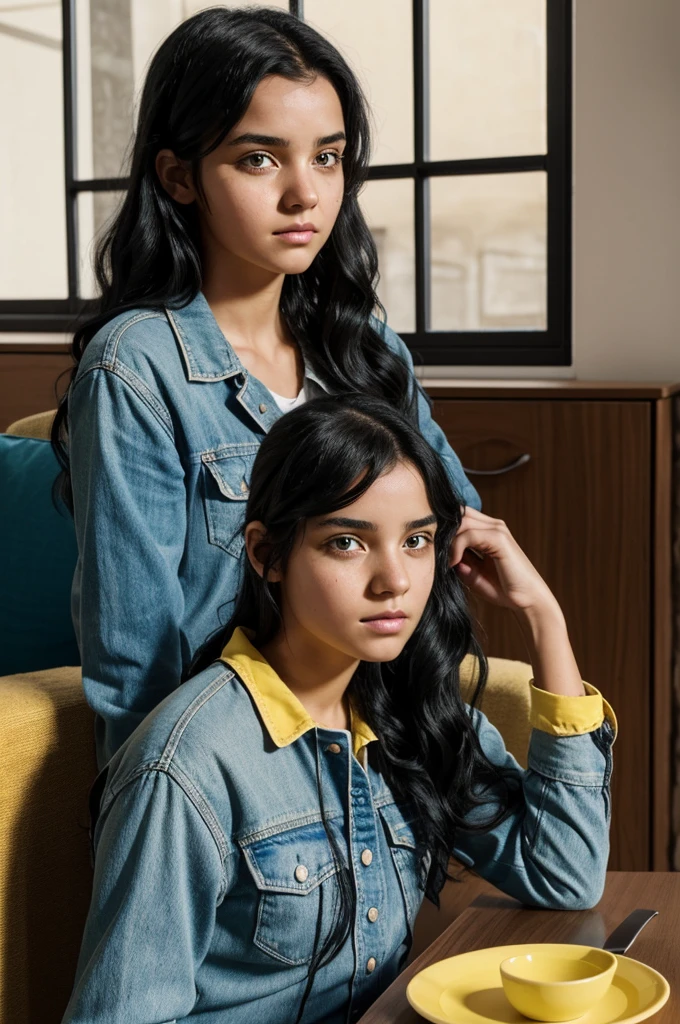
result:
M 347 687 L 358 662 L 313 637 L 281 630 L 260 653 L 310 718 L 329 729 L 349 729 Z

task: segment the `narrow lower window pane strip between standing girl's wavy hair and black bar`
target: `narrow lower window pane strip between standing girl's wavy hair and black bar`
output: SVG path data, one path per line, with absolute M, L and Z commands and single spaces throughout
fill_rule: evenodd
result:
M 378 296 L 395 331 L 415 331 L 413 181 L 369 181 L 362 208 L 378 246 Z

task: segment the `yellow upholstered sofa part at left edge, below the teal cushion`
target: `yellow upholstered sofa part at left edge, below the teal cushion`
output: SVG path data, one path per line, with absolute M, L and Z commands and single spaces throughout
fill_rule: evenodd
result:
M 0 1020 L 58 1024 L 91 889 L 93 714 L 80 669 L 0 679 Z

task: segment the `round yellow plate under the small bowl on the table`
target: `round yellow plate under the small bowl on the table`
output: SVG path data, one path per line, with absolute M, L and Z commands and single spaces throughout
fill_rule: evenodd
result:
M 588 946 L 560 943 L 495 946 L 474 949 L 439 961 L 409 982 L 407 998 L 414 1010 L 434 1024 L 526 1024 L 526 1017 L 508 1002 L 499 967 L 507 956 L 540 948 L 556 956 L 579 956 Z M 635 1024 L 664 1006 L 671 987 L 646 964 L 617 956 L 611 987 L 600 1001 L 579 1018 L 579 1024 Z

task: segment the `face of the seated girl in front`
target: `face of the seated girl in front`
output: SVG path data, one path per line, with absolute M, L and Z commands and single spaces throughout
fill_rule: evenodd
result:
M 339 512 L 308 520 L 281 580 L 291 649 L 320 658 L 396 657 L 432 589 L 435 530 L 410 463 L 397 463 Z

